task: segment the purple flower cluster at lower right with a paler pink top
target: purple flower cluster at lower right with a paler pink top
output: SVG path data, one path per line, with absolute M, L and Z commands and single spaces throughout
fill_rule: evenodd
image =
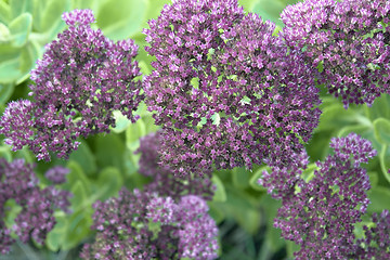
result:
M 275 219 L 282 236 L 300 245 L 297 259 L 349 259 L 356 250 L 354 223 L 366 211 L 370 187 L 360 162 L 376 152 L 354 133 L 334 139 L 330 146 L 334 155 L 316 164 L 318 170 L 309 182 L 297 181 Z

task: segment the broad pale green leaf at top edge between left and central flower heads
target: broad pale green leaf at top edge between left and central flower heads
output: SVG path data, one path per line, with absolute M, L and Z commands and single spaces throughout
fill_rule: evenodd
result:
M 98 26 L 109 39 L 125 39 L 141 30 L 146 11 L 146 0 L 106 0 L 96 15 Z

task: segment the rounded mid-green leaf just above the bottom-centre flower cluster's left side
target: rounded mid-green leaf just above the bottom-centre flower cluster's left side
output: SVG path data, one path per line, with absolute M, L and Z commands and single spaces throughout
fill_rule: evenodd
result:
M 105 200 L 118 194 L 123 185 L 123 179 L 120 171 L 114 167 L 103 169 L 98 180 L 98 199 Z

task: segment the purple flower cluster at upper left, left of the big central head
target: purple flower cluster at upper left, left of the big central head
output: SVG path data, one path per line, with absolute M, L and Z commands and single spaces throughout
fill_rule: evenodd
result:
M 140 94 L 140 68 L 132 40 L 114 43 L 93 30 L 92 11 L 65 13 L 68 28 L 46 47 L 31 72 L 34 101 L 11 102 L 0 121 L 0 133 L 13 151 L 28 145 L 38 159 L 49 152 L 66 158 L 79 145 L 79 135 L 108 132 L 114 110 L 135 121 Z

